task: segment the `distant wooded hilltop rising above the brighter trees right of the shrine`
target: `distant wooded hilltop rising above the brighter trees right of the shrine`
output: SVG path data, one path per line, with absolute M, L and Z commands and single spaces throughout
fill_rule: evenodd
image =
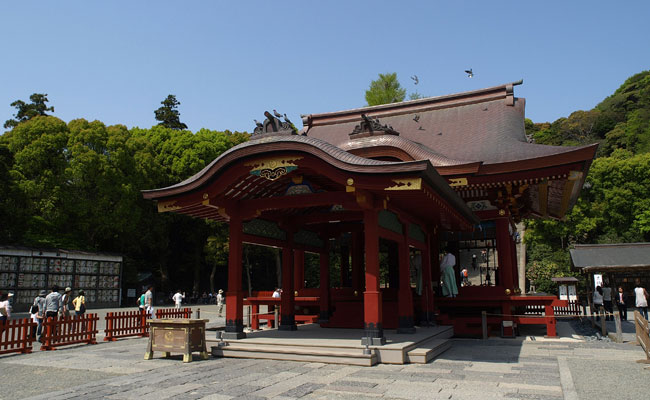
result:
M 599 156 L 615 149 L 650 152 L 650 71 L 638 73 L 589 111 L 576 111 L 553 123 L 526 120 L 536 143 L 578 145 L 599 142 Z

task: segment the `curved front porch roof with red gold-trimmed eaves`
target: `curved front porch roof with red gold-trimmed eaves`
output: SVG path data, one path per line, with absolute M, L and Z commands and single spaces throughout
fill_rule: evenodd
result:
M 296 184 L 306 186 L 306 192 L 289 193 Z M 478 222 L 427 160 L 369 160 L 299 135 L 242 143 L 191 178 L 143 191 L 143 196 L 157 200 L 161 212 L 220 221 L 234 212 L 244 218 L 280 211 L 295 217 L 297 210 L 304 214 L 340 205 L 345 210 L 402 210 L 442 229 L 466 231 Z

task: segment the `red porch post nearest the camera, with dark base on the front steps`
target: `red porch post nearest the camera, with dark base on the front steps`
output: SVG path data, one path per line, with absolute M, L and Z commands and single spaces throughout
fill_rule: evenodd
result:
M 382 299 L 379 290 L 379 212 L 366 209 L 363 212 L 364 243 L 366 249 L 366 291 L 363 293 L 362 344 L 386 343 L 382 323 Z

